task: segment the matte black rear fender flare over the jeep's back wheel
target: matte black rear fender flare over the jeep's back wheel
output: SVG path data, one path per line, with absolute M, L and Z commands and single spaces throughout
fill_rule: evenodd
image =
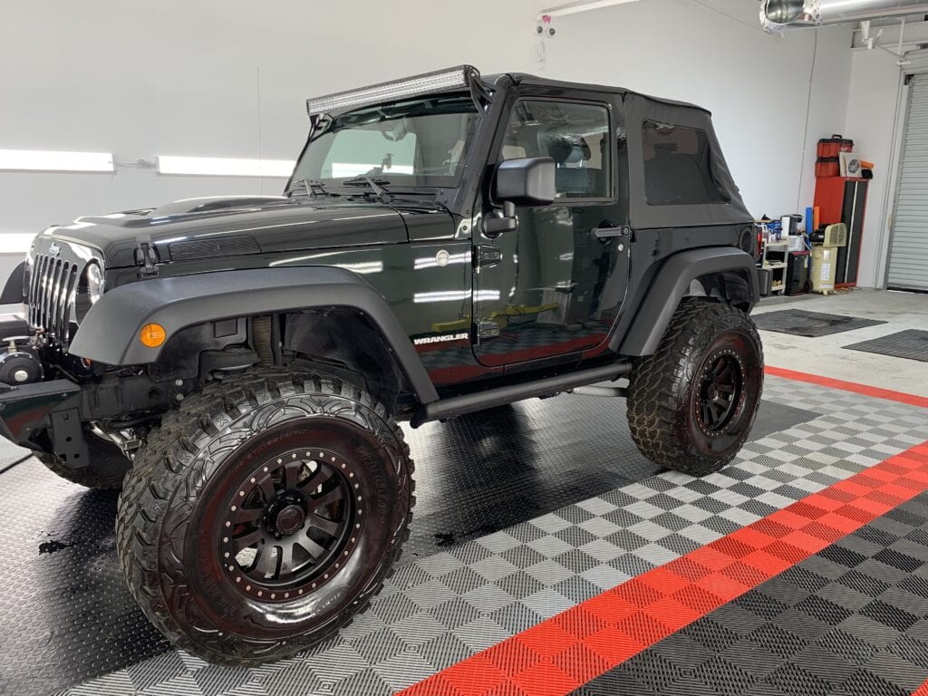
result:
M 760 300 L 757 265 L 751 254 L 733 247 L 702 247 L 680 251 L 668 258 L 651 281 L 651 287 L 638 306 L 638 313 L 624 337 L 616 336 L 616 350 L 622 355 L 651 355 L 664 336 L 664 330 L 677 311 L 677 305 L 700 276 L 723 271 L 744 271 L 750 304 Z

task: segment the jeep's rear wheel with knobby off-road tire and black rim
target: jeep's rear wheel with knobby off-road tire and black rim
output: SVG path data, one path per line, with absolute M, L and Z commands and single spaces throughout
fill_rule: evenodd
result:
M 719 470 L 747 440 L 763 385 L 764 353 L 751 318 L 728 304 L 686 298 L 657 352 L 629 378 L 632 439 L 667 469 Z

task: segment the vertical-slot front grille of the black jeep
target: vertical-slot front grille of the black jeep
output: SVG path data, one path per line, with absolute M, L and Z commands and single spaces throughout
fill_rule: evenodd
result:
M 67 346 L 71 339 L 71 316 L 78 279 L 84 270 L 84 260 L 77 257 L 71 246 L 57 242 L 58 256 L 35 253 L 28 276 L 26 302 L 29 325 L 54 342 Z

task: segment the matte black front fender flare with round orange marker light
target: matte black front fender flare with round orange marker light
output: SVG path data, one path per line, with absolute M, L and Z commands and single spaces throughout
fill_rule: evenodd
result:
M 419 402 L 438 400 L 390 305 L 366 280 L 332 266 L 217 271 L 123 285 L 104 293 L 91 307 L 69 352 L 104 365 L 147 365 L 158 359 L 164 344 L 148 348 L 139 341 L 146 324 L 160 324 L 170 339 L 181 329 L 207 321 L 313 307 L 348 307 L 366 315 L 406 372 Z

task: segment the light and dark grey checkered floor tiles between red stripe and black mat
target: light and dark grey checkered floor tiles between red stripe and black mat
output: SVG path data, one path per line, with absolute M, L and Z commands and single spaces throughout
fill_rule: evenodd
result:
M 218 670 L 170 652 L 69 693 L 392 693 L 905 451 L 928 432 L 928 409 L 855 393 L 768 378 L 765 398 L 822 415 L 755 441 L 711 476 L 664 472 L 410 563 L 339 638 L 291 660 Z M 658 658 L 665 659 L 651 659 Z M 694 678 L 705 681 L 710 670 L 703 664 Z

